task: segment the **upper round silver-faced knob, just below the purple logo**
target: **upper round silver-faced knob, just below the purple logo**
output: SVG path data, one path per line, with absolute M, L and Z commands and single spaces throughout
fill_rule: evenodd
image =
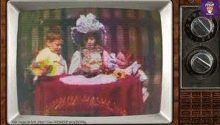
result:
M 197 17 L 191 23 L 191 31 L 197 37 L 205 37 L 213 32 L 214 24 L 206 17 Z

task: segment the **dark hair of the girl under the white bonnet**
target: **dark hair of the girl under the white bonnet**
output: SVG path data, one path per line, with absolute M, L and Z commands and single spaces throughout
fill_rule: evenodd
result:
M 101 35 L 100 33 L 97 32 L 89 32 L 87 34 L 83 35 L 83 44 L 85 44 L 85 41 L 88 41 L 89 38 L 94 37 L 95 38 L 95 45 L 100 45 L 101 44 Z

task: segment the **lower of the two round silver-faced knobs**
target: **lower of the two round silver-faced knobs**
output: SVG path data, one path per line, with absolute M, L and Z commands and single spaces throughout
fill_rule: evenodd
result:
M 196 73 L 204 74 L 211 70 L 214 59 L 207 51 L 200 51 L 192 56 L 190 66 Z

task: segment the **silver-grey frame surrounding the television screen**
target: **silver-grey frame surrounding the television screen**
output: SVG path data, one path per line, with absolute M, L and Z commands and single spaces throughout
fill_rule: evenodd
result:
M 59 3 L 59 4 L 58 4 Z M 169 124 L 173 121 L 173 5 L 170 0 L 10 0 L 7 2 L 7 122 L 85 121 L 86 123 Z M 50 5 L 50 6 L 49 6 Z M 63 117 L 21 115 L 18 111 L 16 55 L 18 17 L 21 11 L 55 8 L 126 8 L 156 10 L 162 26 L 162 95 L 157 114 L 112 117 Z M 17 29 L 16 29 L 16 28 Z M 14 79 L 12 79 L 14 78 Z M 57 120 L 59 119 L 59 120 Z

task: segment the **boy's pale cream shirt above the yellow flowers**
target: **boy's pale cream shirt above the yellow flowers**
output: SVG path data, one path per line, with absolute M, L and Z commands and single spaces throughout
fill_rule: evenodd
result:
M 35 61 L 41 61 L 41 60 L 46 60 L 48 59 L 50 60 L 50 62 L 54 62 L 54 63 L 58 63 L 58 69 L 59 71 L 57 72 L 57 75 L 63 74 L 63 73 L 67 73 L 67 64 L 66 61 L 64 60 L 64 58 L 62 57 L 62 55 L 58 55 L 56 53 L 51 52 L 51 50 L 46 47 L 45 49 L 41 50 L 39 52 L 39 54 L 37 55 L 37 57 L 35 58 Z M 47 74 L 48 76 L 50 74 Z M 37 80 L 38 76 L 34 77 L 34 80 Z

